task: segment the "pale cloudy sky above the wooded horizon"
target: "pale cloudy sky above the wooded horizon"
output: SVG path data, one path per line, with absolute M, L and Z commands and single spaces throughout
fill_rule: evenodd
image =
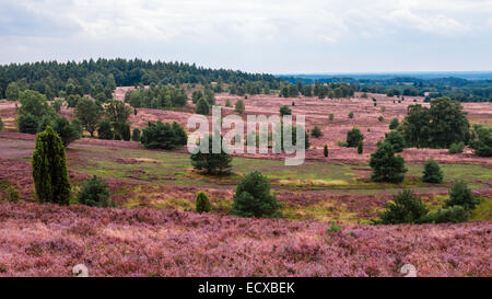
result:
M 0 64 L 97 57 L 272 73 L 492 70 L 492 0 L 0 0 Z

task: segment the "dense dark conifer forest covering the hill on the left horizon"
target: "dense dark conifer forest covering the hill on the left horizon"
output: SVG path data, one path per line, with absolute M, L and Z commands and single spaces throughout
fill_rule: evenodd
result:
M 69 81 L 69 79 L 71 79 Z M 195 64 L 144 61 L 141 59 L 97 59 L 80 62 L 42 61 L 34 64 L 11 64 L 0 66 L 0 97 L 5 97 L 10 83 L 14 82 L 20 91 L 31 89 L 45 94 L 49 100 L 60 96 L 65 91 L 70 94 L 91 94 L 97 99 L 103 94 L 107 100 L 118 87 L 142 84 L 173 84 L 212 82 L 249 82 L 278 87 L 279 79 L 272 74 L 248 73 L 226 69 L 197 67 Z M 63 96 L 65 97 L 65 96 Z

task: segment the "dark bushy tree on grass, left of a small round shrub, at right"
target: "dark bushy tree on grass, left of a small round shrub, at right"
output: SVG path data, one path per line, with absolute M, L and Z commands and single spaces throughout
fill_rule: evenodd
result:
M 399 183 L 407 172 L 405 159 L 395 157 L 395 149 L 388 142 L 378 142 L 376 151 L 371 154 L 370 166 L 373 169 L 371 179 L 375 182 Z

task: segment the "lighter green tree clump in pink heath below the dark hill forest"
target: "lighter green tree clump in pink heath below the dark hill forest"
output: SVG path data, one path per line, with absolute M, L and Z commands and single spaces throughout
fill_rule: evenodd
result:
M 125 94 L 125 102 L 136 108 L 169 110 L 183 107 L 188 102 L 184 89 L 152 83 L 149 89 L 139 87 Z

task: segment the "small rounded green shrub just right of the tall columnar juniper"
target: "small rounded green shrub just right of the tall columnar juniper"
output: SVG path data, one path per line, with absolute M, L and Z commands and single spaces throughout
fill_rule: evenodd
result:
M 108 207 L 109 192 L 107 191 L 107 183 L 96 175 L 85 180 L 77 195 L 77 199 L 80 204 L 91 207 Z

